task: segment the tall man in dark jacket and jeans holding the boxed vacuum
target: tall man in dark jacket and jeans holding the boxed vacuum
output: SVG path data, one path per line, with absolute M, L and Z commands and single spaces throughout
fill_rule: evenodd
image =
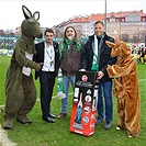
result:
M 111 48 L 105 41 L 114 42 L 114 38 L 108 36 L 104 32 L 104 24 L 101 21 L 94 22 L 94 34 L 89 36 L 85 44 L 81 56 L 81 69 L 97 71 L 97 80 L 99 80 L 98 92 L 98 119 L 97 124 L 104 120 L 103 115 L 103 98 L 105 101 L 105 125 L 104 130 L 109 130 L 112 125 L 112 79 L 109 78 L 108 65 L 113 65 L 116 58 L 111 57 Z

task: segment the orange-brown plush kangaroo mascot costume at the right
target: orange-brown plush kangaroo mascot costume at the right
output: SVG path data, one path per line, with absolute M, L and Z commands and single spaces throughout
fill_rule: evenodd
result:
M 130 48 L 119 37 L 112 47 L 111 56 L 117 56 L 116 64 L 108 67 L 108 74 L 114 78 L 113 93 L 117 100 L 119 123 L 116 130 L 126 130 L 128 137 L 141 133 L 141 98 L 136 75 L 136 61 Z

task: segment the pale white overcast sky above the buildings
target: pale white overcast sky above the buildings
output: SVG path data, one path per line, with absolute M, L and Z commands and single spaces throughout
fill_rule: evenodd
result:
M 0 30 L 15 30 L 24 20 L 22 5 L 40 11 L 42 27 L 52 27 L 74 16 L 105 12 L 105 0 L 0 0 Z M 106 0 L 106 12 L 141 11 L 146 0 Z

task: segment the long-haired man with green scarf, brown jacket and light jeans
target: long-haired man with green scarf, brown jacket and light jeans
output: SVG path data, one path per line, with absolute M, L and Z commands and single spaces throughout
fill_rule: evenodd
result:
M 61 112 L 57 119 L 67 115 L 69 83 L 75 89 L 76 72 L 80 69 L 81 47 L 82 44 L 78 40 L 76 30 L 72 26 L 66 27 L 59 46 L 60 69 L 66 98 L 61 99 Z

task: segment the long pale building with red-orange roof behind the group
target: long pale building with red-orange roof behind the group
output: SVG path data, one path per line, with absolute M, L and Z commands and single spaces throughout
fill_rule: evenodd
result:
M 68 25 L 71 25 L 80 37 L 88 37 L 93 34 L 93 23 L 101 20 L 106 21 L 106 33 L 113 37 L 120 36 L 122 41 L 131 43 L 146 41 L 146 14 L 143 10 L 111 12 L 106 14 L 106 19 L 104 18 L 104 13 L 79 15 L 54 26 L 54 30 L 61 34 Z

